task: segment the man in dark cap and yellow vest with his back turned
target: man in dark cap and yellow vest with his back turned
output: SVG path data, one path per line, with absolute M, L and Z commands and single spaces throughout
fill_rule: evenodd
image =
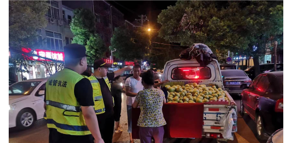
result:
M 81 76 L 87 68 L 86 48 L 79 44 L 64 47 L 65 68 L 46 83 L 45 119 L 49 142 L 101 142 L 94 112 L 90 81 Z

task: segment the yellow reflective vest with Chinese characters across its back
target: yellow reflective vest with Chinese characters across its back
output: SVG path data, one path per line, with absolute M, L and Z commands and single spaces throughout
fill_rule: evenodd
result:
M 48 128 L 69 135 L 91 134 L 74 94 L 75 84 L 83 78 L 75 71 L 64 68 L 48 79 L 45 114 Z

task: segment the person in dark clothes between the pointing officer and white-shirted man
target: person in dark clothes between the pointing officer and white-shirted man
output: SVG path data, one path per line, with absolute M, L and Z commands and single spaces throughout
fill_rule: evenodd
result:
M 121 93 L 122 93 L 122 78 L 117 76 L 114 78 L 114 82 L 111 86 L 112 96 L 114 97 L 115 106 L 114 106 L 114 120 L 115 120 L 115 132 L 122 132 L 120 129 L 120 116 L 121 116 Z

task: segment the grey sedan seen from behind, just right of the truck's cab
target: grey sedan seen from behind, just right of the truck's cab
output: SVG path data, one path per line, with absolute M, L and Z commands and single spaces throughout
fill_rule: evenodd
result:
M 252 80 L 240 69 L 226 69 L 221 70 L 223 78 L 223 85 L 228 93 L 240 94 L 243 90 L 240 88 L 242 84 L 251 84 Z

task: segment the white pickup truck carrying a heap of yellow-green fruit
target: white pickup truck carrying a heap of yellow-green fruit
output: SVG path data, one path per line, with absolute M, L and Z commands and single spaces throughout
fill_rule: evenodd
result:
M 216 59 L 210 62 L 207 66 L 201 67 L 200 64 L 195 59 L 191 60 L 181 60 L 174 59 L 166 62 L 164 66 L 164 72 L 162 75 L 162 81 L 169 80 L 170 82 L 184 82 L 197 84 L 215 84 L 217 88 L 222 88 L 224 90 L 222 76 L 220 71 L 219 63 Z M 176 84 L 175 84 L 176 85 Z M 226 142 L 228 139 L 233 140 L 233 134 L 237 131 L 237 107 L 236 103 L 228 94 L 225 92 L 225 96 L 228 97 L 228 101 L 216 101 L 216 102 L 206 102 L 203 104 L 203 122 L 202 128 L 195 128 L 198 132 L 201 130 L 202 136 L 207 138 L 217 138 L 218 142 Z M 166 103 L 166 104 L 177 104 L 186 105 L 183 103 Z M 191 104 L 191 103 L 190 103 Z M 201 104 L 201 103 L 195 103 Z M 232 127 L 232 137 L 223 138 L 222 132 L 224 131 L 223 125 L 220 125 L 219 121 L 224 114 L 227 114 L 230 110 L 234 109 L 233 121 L 234 125 Z M 190 109 L 191 110 L 191 109 Z M 199 111 L 192 110 L 194 114 Z M 201 113 L 201 112 L 200 112 Z M 163 111 L 164 114 L 164 111 Z M 181 127 L 184 128 L 184 127 Z M 165 129 L 165 128 L 164 128 Z M 176 128 L 176 130 L 184 131 L 183 129 Z M 167 132 L 167 131 L 166 131 Z M 184 133 L 183 133 L 184 134 Z M 179 137 L 179 136 L 176 136 Z M 185 137 L 185 136 L 184 136 Z

